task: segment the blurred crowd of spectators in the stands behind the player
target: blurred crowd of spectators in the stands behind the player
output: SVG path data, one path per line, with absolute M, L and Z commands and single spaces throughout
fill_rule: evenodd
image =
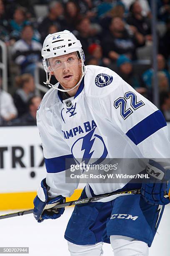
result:
M 150 5 L 151 0 L 0 0 L 11 92 L 0 89 L 0 122 L 36 123 L 43 95 L 35 90 L 35 67 L 45 37 L 64 29 L 80 40 L 86 65 L 109 67 L 153 101 Z M 170 121 L 170 0 L 157 0 L 157 8 L 160 109 Z

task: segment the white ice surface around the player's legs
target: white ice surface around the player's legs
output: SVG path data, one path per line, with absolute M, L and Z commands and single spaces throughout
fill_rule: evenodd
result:
M 32 214 L 0 220 L 0 246 L 29 247 L 29 254 L 25 254 L 29 256 L 70 256 L 64 232 L 72 210 L 73 207 L 67 207 L 59 219 L 45 220 L 42 223 L 37 223 Z M 0 212 L 0 215 L 5 213 L 7 212 Z M 169 256 L 170 205 L 165 207 L 158 233 L 149 256 Z M 103 256 L 113 256 L 109 244 L 104 244 L 103 251 Z

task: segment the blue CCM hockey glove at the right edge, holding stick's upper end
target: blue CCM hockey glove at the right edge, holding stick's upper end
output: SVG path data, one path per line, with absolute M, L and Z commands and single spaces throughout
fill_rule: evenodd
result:
M 170 169 L 164 169 L 159 163 L 149 160 L 146 172 L 150 179 L 142 184 L 141 194 L 146 202 L 151 205 L 167 205 L 170 198 L 165 196 L 168 192 L 168 181 L 170 180 Z

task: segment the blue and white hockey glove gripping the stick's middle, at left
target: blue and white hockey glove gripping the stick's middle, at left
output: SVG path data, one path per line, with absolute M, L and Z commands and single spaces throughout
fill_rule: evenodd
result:
M 40 200 L 41 198 L 41 200 Z M 42 179 L 41 187 L 37 190 L 37 196 L 34 199 L 34 218 L 40 223 L 45 219 L 57 219 L 64 212 L 65 208 L 54 209 L 58 203 L 65 202 L 65 197 L 61 195 L 49 199 L 47 193 L 47 184 L 45 179 Z

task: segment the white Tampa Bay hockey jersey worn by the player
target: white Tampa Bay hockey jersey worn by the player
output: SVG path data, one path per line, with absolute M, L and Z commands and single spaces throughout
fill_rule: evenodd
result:
M 105 67 L 86 66 L 74 97 L 50 89 L 37 110 L 51 196 L 70 197 L 78 182 L 65 183 L 65 159 L 170 158 L 165 119 L 149 100 Z M 95 195 L 124 183 L 93 183 Z M 87 186 L 88 187 L 88 186 Z

